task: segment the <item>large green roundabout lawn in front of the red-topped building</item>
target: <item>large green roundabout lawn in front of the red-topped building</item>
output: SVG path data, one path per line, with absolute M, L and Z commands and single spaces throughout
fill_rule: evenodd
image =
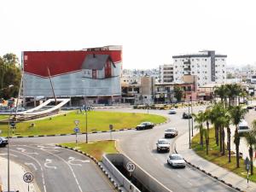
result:
M 136 125 L 143 121 L 151 121 L 154 124 L 166 121 L 165 117 L 154 114 L 101 111 L 88 112 L 87 119 L 88 132 L 108 131 L 110 124 L 113 125 L 113 130 L 119 130 L 135 128 Z M 73 112 L 67 113 L 66 116 L 61 114 L 47 119 L 18 123 L 16 125 L 15 134 L 19 134 L 20 136 L 33 136 L 73 133 L 73 129 L 76 126 L 74 120 L 79 120 L 80 132 L 85 132 L 85 114 Z M 32 123 L 34 123 L 35 126 L 32 126 Z M 0 125 L 0 130 L 3 131 L 3 136 L 6 136 L 8 125 Z

